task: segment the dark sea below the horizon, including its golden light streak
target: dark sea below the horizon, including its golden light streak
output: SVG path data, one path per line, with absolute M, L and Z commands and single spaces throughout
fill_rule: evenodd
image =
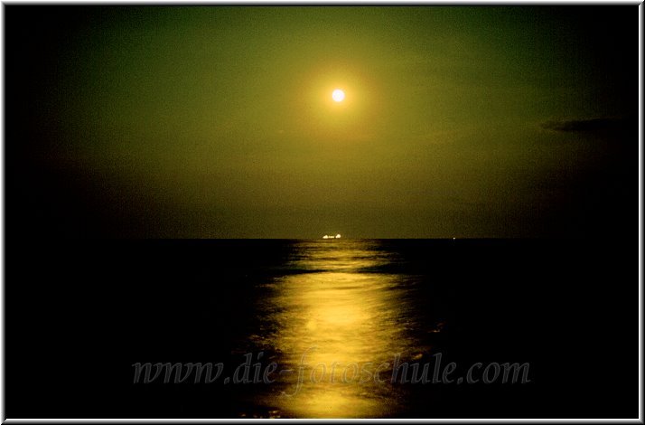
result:
M 5 254 L 7 415 L 634 417 L 638 291 L 626 250 L 25 241 Z M 247 356 L 251 382 L 232 382 Z M 134 383 L 133 364 L 148 362 L 223 369 L 211 383 Z M 397 362 L 428 364 L 428 378 L 454 363 L 455 379 L 472 364 L 528 364 L 529 382 L 400 382 Z M 253 382 L 270 367 L 271 382 Z

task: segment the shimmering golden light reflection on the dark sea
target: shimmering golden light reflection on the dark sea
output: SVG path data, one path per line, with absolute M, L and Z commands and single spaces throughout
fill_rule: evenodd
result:
M 263 325 L 250 335 L 253 348 L 275 353 L 284 371 L 255 402 L 297 418 L 401 409 L 402 392 L 390 382 L 394 356 L 428 352 L 414 335 L 433 324 L 407 305 L 414 276 L 379 271 L 398 260 L 375 241 L 295 242 L 288 274 L 265 284 Z

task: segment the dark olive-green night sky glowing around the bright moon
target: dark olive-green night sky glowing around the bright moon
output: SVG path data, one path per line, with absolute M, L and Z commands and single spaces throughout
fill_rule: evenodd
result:
M 637 5 L 4 7 L 16 235 L 636 224 Z

